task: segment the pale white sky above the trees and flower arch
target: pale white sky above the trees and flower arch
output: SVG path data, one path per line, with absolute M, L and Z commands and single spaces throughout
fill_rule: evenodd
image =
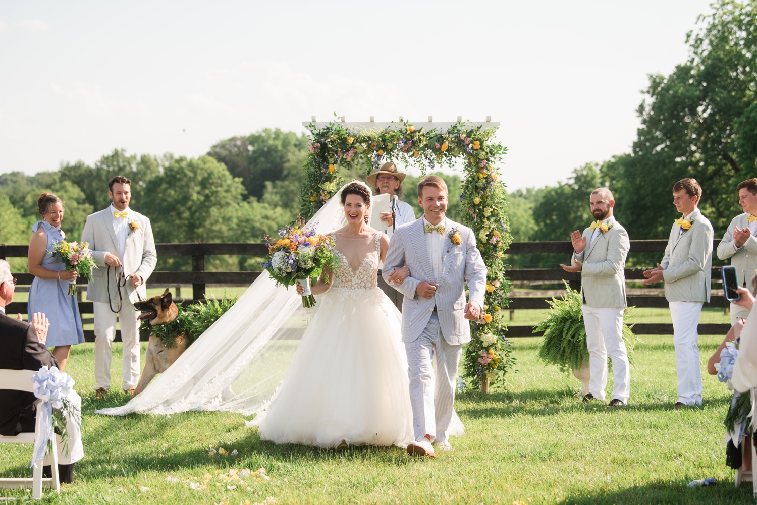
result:
M 501 123 L 509 189 L 628 152 L 702 0 L 0 0 L 0 173 L 114 148 L 198 157 L 302 121 Z M 701 26 L 701 25 L 699 25 Z

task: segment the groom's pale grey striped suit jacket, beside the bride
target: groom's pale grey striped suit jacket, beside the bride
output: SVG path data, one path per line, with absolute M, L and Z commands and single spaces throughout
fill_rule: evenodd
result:
M 475 234 L 467 226 L 447 218 L 447 231 L 456 226 L 463 243 L 453 245 L 449 237 L 444 238 L 442 249 L 442 278 L 436 294 L 430 299 L 416 293 L 418 283 L 434 279 L 431 258 L 425 242 L 423 218 L 397 228 L 389 242 L 389 250 L 384 260 L 384 280 L 400 267 L 408 267 L 410 276 L 401 285 L 391 285 L 405 295 L 402 303 L 402 341 L 412 342 L 418 338 L 431 319 L 434 306 L 437 307 L 442 335 L 450 345 L 464 344 L 471 339 L 468 320 L 463 309 L 466 304 L 465 282 L 468 283 L 470 300 L 484 307 L 486 290 L 486 265 L 475 243 Z M 451 245 L 451 248 L 450 248 Z M 447 252 L 447 249 L 450 251 Z

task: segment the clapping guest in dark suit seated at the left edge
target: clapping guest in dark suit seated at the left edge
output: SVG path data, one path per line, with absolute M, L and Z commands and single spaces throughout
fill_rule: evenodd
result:
M 13 301 L 16 279 L 11 276 L 11 267 L 0 260 L 0 369 L 39 370 L 42 366 L 58 366 L 50 354 L 45 339 L 49 321 L 43 313 L 36 313 L 30 323 L 5 315 L 5 307 Z M 0 435 L 14 436 L 22 432 L 34 432 L 37 398 L 34 393 L 0 389 Z M 71 433 L 70 433 L 71 434 Z M 73 434 L 71 434 L 73 435 Z M 79 450 L 74 451 L 76 447 Z M 79 460 L 81 441 L 72 440 L 70 454 L 63 454 L 58 438 L 58 472 L 61 482 L 73 482 L 73 463 Z M 43 468 L 44 469 L 44 468 Z

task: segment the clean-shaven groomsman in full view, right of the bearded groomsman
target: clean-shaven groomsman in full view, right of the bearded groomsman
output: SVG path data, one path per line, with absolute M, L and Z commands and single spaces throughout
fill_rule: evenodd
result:
M 675 220 L 657 268 L 646 270 L 646 285 L 665 281 L 665 298 L 673 320 L 678 401 L 674 407 L 702 404 L 702 372 L 699 363 L 699 313 L 709 301 L 712 278 L 712 225 L 696 208 L 702 186 L 696 179 L 673 185 L 673 204 L 682 214 Z

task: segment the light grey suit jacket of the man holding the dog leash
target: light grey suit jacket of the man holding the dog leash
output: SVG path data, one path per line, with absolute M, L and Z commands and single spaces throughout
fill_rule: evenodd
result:
M 150 220 L 139 212 L 129 209 L 129 217 L 139 223 L 139 229 L 126 235 L 126 250 L 123 252 L 123 275 L 138 275 L 142 278 L 142 285 L 134 288 L 132 283 L 126 282 L 126 293 L 133 304 L 147 298 L 147 279 L 157 263 L 155 241 L 152 238 Z M 105 253 L 119 256 L 116 231 L 113 228 L 113 215 L 110 207 L 87 216 L 87 222 L 82 232 L 82 242 L 89 242 L 89 250 L 98 268 L 92 272 L 92 281 L 87 285 L 87 300 L 107 303 L 107 264 Z M 111 299 L 118 301 L 118 289 L 115 284 L 114 269 L 111 268 Z

